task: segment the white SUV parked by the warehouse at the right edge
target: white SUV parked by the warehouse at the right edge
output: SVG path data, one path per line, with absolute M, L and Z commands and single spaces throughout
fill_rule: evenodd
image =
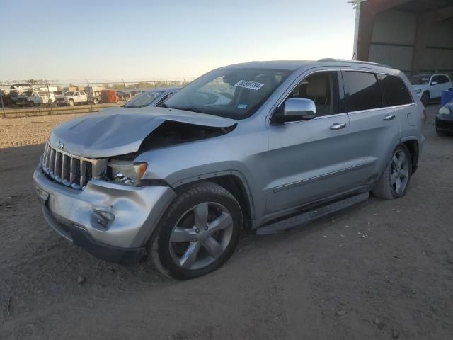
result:
M 424 106 L 430 101 L 440 99 L 442 91 L 452 89 L 453 84 L 447 74 L 418 74 L 409 78 L 415 93 L 421 98 Z

